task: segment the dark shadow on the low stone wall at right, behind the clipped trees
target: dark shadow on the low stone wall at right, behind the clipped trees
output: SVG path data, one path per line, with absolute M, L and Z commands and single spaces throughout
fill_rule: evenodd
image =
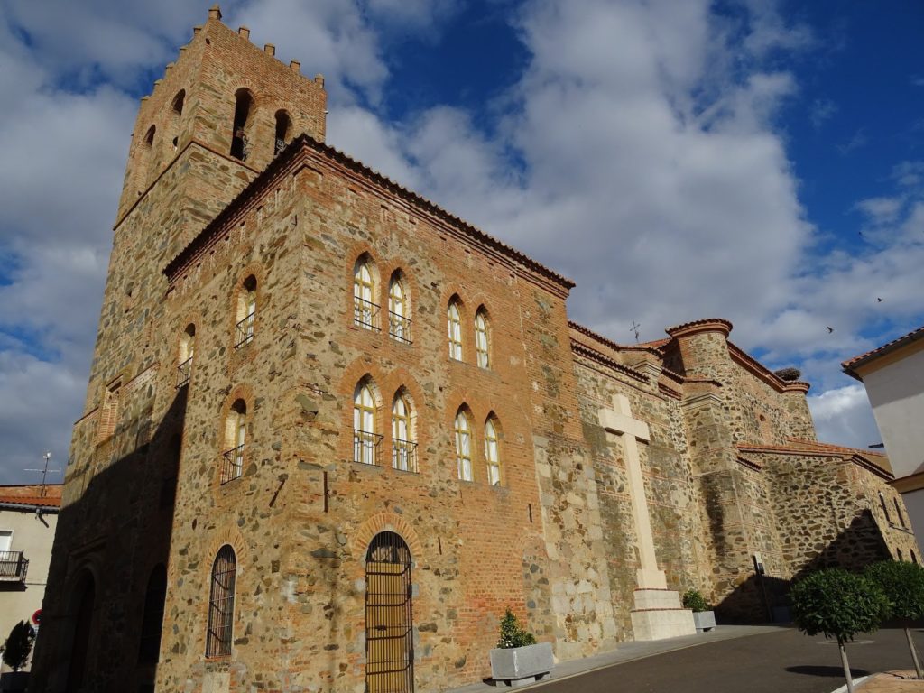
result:
M 789 537 L 784 554 L 790 553 L 799 541 L 810 541 L 806 536 Z M 865 565 L 891 558 L 881 529 L 869 509 L 863 510 L 841 530 L 836 539 L 824 546 L 820 553 L 797 570 L 792 581 L 822 568 L 843 567 L 859 570 Z M 796 559 L 797 560 L 797 559 Z M 790 580 L 752 572 L 735 590 L 715 606 L 721 623 L 785 623 L 789 621 Z

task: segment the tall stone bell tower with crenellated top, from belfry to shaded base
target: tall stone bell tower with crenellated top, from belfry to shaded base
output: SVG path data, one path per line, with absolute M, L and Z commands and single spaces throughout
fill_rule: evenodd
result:
M 274 54 L 213 6 L 141 99 L 71 442 L 36 690 L 152 689 L 146 657 L 153 650 L 156 662 L 159 628 L 148 615 L 141 622 L 140 605 L 148 614 L 159 601 L 163 612 L 186 415 L 162 273 L 287 142 L 323 140 L 323 78 Z

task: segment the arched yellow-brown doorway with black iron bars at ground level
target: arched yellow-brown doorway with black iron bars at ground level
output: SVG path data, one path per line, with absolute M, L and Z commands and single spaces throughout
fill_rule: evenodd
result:
M 395 532 L 376 534 L 366 553 L 366 690 L 414 690 L 411 556 Z

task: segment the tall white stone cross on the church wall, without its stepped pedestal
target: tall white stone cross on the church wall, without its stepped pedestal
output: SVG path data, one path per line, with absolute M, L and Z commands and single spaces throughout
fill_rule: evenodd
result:
M 641 590 L 664 590 L 667 581 L 664 571 L 658 569 L 654 555 L 654 537 L 651 534 L 651 520 L 648 514 L 648 500 L 645 498 L 645 481 L 641 475 L 641 460 L 638 457 L 638 441 L 650 441 L 648 424 L 632 418 L 632 410 L 626 395 L 613 395 L 613 408 L 601 409 L 600 425 L 610 433 L 617 433 L 623 442 L 626 455 L 626 478 L 629 484 L 629 498 L 632 501 L 632 516 L 635 519 L 638 537 L 638 588 Z

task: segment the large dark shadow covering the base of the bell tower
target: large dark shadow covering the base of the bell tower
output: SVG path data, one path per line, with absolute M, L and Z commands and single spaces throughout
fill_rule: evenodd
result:
M 58 517 L 30 689 L 153 690 L 187 390 L 154 430 L 150 407 L 127 413 L 68 475 L 97 470 Z

